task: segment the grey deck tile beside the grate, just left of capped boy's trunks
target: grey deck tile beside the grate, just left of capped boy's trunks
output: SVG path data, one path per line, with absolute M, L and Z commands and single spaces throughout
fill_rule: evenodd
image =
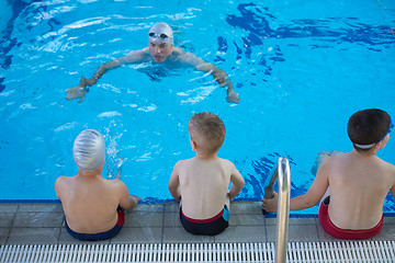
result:
M 60 228 L 12 228 L 8 244 L 54 244 L 57 243 Z

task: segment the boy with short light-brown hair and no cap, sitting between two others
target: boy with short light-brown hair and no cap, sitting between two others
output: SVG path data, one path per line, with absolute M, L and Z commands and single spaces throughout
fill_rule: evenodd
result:
M 208 112 L 193 115 L 189 133 L 196 156 L 176 163 L 169 191 L 181 203 L 180 220 L 184 229 L 194 235 L 214 236 L 228 227 L 229 203 L 245 181 L 235 164 L 217 157 L 225 139 L 225 125 L 217 115 Z

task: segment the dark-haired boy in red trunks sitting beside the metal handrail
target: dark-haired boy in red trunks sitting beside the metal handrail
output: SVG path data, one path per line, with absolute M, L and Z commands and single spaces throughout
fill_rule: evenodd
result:
M 291 210 L 319 206 L 319 221 L 338 239 L 368 239 L 383 226 L 383 205 L 391 191 L 395 198 L 395 167 L 376 157 L 385 147 L 393 123 L 377 108 L 354 113 L 348 123 L 353 150 L 326 158 L 306 194 L 290 201 Z M 276 196 L 262 198 L 267 211 L 276 210 Z

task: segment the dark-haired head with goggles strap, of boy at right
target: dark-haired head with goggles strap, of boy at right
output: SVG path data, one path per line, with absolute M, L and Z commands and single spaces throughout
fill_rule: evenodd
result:
M 352 114 L 347 132 L 357 151 L 369 151 L 385 138 L 392 127 L 386 112 L 369 108 Z

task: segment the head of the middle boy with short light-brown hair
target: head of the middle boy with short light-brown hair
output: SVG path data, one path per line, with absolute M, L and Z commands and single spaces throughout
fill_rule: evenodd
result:
M 221 118 L 208 112 L 198 113 L 189 122 L 191 140 L 205 155 L 219 150 L 225 139 L 225 125 Z

